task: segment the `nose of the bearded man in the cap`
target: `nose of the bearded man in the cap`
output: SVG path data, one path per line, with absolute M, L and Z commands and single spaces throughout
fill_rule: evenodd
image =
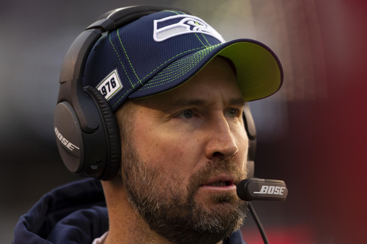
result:
M 212 121 L 208 127 L 207 143 L 205 146 L 206 158 L 213 160 L 219 158 L 221 160 L 230 158 L 238 152 L 233 132 L 224 117 Z

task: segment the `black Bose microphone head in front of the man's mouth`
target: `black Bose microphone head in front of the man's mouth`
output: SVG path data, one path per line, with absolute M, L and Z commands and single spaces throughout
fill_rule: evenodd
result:
M 286 200 L 288 190 L 283 180 L 244 179 L 237 185 L 237 196 L 244 201 Z

